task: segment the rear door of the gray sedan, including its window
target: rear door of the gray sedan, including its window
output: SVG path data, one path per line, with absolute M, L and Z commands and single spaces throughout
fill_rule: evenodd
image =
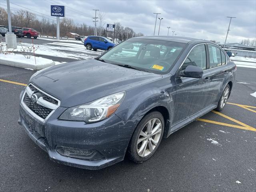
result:
M 211 73 L 210 82 L 206 90 L 207 104 L 217 103 L 222 92 L 222 85 L 228 73 L 226 67 L 226 55 L 220 48 L 213 44 L 207 44 L 209 66 L 208 70 Z

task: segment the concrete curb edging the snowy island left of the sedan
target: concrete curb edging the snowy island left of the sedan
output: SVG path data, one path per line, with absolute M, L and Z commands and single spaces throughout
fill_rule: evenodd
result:
M 29 64 L 25 64 L 25 63 L 6 61 L 6 60 L 0 59 L 0 64 L 12 66 L 12 67 L 30 68 L 30 69 L 33 69 L 33 70 L 41 70 L 41 69 L 44 69 L 46 67 L 54 66 L 55 62 L 53 61 L 52 63 L 46 64 L 46 65 L 29 65 Z

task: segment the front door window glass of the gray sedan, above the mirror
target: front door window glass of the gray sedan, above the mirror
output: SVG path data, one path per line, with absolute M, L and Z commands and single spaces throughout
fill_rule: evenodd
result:
M 206 50 L 204 44 L 195 46 L 184 63 L 182 64 L 182 70 L 185 70 L 187 66 L 198 66 L 202 70 L 206 70 Z

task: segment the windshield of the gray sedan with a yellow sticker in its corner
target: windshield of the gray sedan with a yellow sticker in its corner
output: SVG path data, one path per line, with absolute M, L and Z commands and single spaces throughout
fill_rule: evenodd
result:
M 102 55 L 99 60 L 164 74 L 174 65 L 186 44 L 151 39 L 129 39 Z

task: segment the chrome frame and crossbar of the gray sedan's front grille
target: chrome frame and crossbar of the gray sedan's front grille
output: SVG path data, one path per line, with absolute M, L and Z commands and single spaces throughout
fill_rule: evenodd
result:
M 30 108 L 28 108 L 28 106 L 26 106 L 26 104 L 23 102 L 23 99 L 24 99 L 24 96 L 25 96 L 26 93 L 27 93 L 27 94 L 28 94 L 28 92 L 30 92 L 30 93 L 32 92 L 32 94 L 34 93 L 30 88 L 28 88 L 28 86 L 30 86 L 30 85 L 32 85 L 34 88 L 36 88 L 37 90 L 39 90 L 39 91 L 42 92 L 43 94 L 46 94 L 46 95 L 49 96 L 50 98 L 53 98 L 53 99 L 55 99 L 56 101 L 58 101 L 58 105 L 56 106 L 55 104 L 52 104 L 52 103 L 50 103 L 50 102 L 44 100 L 43 103 L 48 102 L 48 103 L 54 105 L 54 109 L 50 108 L 50 109 L 52 109 L 52 112 L 50 112 L 50 114 L 49 114 L 45 119 L 43 119 L 43 118 L 41 118 L 40 116 L 38 116 L 37 114 L 35 114 L 35 113 L 34 113 Z M 28 92 L 27 92 L 27 90 L 28 90 Z M 32 95 L 32 94 L 31 94 L 31 95 Z M 30 95 L 30 97 L 31 97 L 31 95 Z M 42 97 L 40 97 L 40 98 L 42 98 Z M 39 99 L 40 99 L 40 98 L 39 98 Z M 39 99 L 38 99 L 38 100 L 39 100 Z M 41 99 L 41 100 L 43 100 L 43 99 Z M 36 102 L 36 103 L 40 104 L 40 102 L 42 102 L 42 101 L 39 101 L 39 103 L 38 103 L 38 102 Z M 44 124 L 44 123 L 46 122 L 46 120 L 47 120 L 47 119 L 55 112 L 55 110 L 60 106 L 60 100 L 58 100 L 57 98 L 55 98 L 55 97 L 51 96 L 50 94 L 44 92 L 43 90 L 41 90 L 40 88 L 38 88 L 38 87 L 35 86 L 34 84 L 30 83 L 30 84 L 27 85 L 26 90 L 24 91 L 24 93 L 23 93 L 23 95 L 22 95 L 22 99 L 21 99 L 20 104 L 21 104 L 21 106 L 22 106 L 30 115 L 32 115 L 34 118 L 36 118 L 37 120 L 39 120 L 40 122 L 42 122 L 42 123 Z M 42 104 L 40 104 L 40 105 L 42 105 Z M 44 106 L 44 105 L 42 105 L 42 106 Z M 48 106 L 44 106 L 44 107 L 49 108 Z M 52 107 L 53 107 L 53 106 L 52 106 Z

